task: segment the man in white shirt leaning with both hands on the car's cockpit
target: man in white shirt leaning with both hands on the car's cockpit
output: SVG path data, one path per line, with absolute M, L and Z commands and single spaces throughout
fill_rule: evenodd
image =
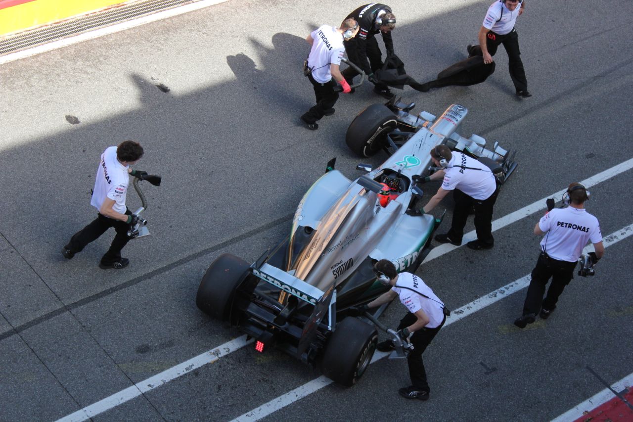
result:
M 420 183 L 442 178 L 444 181 L 422 208 L 422 213 L 430 212 L 450 191 L 454 192 L 455 200 L 451 229 L 446 234 L 436 234 L 435 240 L 460 246 L 468 214 L 474 208 L 477 240 L 468 242 L 467 246 L 473 250 L 491 249 L 494 246 L 492 208 L 499 193 L 492 170 L 463 152 L 451 151 L 446 145 L 437 145 L 430 155 L 434 165 L 441 170 L 424 178 L 414 177 L 414 181 Z

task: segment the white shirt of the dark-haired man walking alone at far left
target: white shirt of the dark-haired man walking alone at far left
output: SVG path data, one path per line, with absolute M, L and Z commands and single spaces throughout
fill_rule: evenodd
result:
M 116 159 L 116 146 L 106 148 L 101 154 L 90 205 L 100 210 L 107 197 L 116 201 L 112 207 L 113 210 L 125 214 L 127 209 L 125 208 L 125 196 L 127 195 L 127 185 L 130 183 L 127 167 Z

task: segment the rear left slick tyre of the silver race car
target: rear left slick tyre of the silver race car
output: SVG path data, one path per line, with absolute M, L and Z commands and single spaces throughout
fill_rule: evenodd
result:
M 196 306 L 205 314 L 228 321 L 235 288 L 248 274 L 245 260 L 225 253 L 220 255 L 204 273 L 196 294 Z

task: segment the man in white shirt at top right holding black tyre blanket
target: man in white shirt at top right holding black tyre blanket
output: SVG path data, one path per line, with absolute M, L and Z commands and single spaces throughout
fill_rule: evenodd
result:
M 492 3 L 479 29 L 479 46 L 469 45 L 467 50 L 469 56 L 483 56 L 484 63 L 489 64 L 492 63 L 492 56 L 497 52 L 499 44 L 503 44 L 508 53 L 508 68 L 517 96 L 528 98 L 532 94 L 527 91 L 527 79 L 515 29 L 515 22 L 523 11 L 525 0 L 498 0 Z

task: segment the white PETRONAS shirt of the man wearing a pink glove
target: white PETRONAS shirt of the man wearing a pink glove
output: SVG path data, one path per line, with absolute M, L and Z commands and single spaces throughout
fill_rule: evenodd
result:
M 312 77 L 316 82 L 325 84 L 332 79 L 330 65 L 341 64 L 345 53 L 343 35 L 339 34 L 335 27 L 323 25 L 313 31 L 310 36 L 314 42 L 308 56 L 308 66 L 312 69 Z

